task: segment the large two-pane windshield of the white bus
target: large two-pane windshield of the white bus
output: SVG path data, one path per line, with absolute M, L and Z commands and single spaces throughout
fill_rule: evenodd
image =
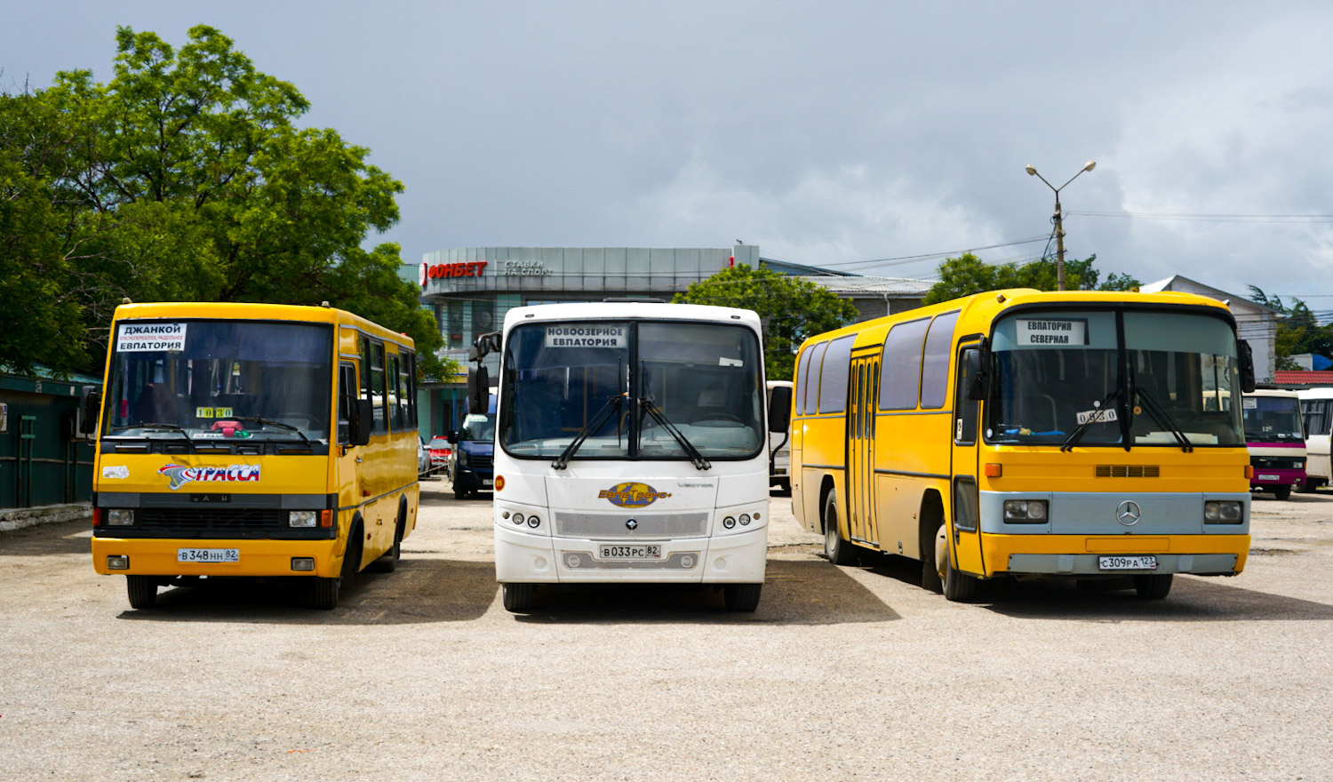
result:
M 528 324 L 505 340 L 500 444 L 516 457 L 750 458 L 765 442 L 758 340 L 744 326 Z

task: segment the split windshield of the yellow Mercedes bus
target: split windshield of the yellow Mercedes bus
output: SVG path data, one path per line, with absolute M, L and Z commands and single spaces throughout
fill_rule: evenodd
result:
M 986 440 L 1025 445 L 1245 445 L 1236 337 L 1193 313 L 1032 310 L 992 338 Z

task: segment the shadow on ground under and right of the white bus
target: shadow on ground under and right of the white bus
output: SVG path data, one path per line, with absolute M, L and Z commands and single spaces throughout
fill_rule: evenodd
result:
M 854 580 L 818 561 L 769 560 L 754 613 L 729 611 L 712 585 L 593 584 L 537 589 L 520 622 L 841 625 L 901 618 Z

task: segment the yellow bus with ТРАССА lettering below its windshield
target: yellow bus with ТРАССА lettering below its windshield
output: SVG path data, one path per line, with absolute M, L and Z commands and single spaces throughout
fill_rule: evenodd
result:
M 100 397 L 93 566 L 133 607 L 289 576 L 332 609 L 363 568 L 397 565 L 417 514 L 408 337 L 328 306 L 127 304 Z

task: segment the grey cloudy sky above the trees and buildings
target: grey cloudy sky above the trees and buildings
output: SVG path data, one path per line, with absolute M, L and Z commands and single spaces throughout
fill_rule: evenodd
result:
M 403 181 L 380 238 L 408 262 L 740 238 L 930 278 L 1038 258 L 1054 198 L 1024 165 L 1096 160 L 1069 257 L 1333 310 L 1328 3 L 43 0 L 4 12 L 0 87 L 107 81 L 117 25 L 195 24 Z

